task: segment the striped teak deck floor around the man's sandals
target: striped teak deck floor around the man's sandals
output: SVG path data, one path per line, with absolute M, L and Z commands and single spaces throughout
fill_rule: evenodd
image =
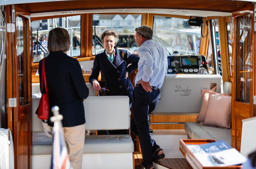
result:
M 133 152 L 134 155 L 134 165 L 139 165 L 142 162 L 142 155 L 140 152 Z M 185 158 L 164 158 L 161 160 L 154 161 L 154 163 L 162 165 L 170 169 L 193 169 Z

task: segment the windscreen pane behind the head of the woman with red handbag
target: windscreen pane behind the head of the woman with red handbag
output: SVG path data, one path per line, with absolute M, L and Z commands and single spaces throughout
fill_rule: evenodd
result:
M 62 27 L 68 30 L 70 35 L 70 49 L 67 55 L 70 57 L 76 57 L 81 55 L 81 15 L 68 16 L 62 18 L 52 18 L 44 20 L 36 20 L 32 22 L 32 34 L 33 34 L 33 62 L 39 62 L 41 59 L 48 55 L 47 40 L 48 34 L 51 29 Z M 40 44 L 37 45 L 38 30 L 38 41 Z

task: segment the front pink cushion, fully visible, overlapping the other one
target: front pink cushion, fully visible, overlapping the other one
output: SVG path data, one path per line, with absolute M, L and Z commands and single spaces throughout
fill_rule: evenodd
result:
M 231 127 L 231 96 L 209 92 L 205 121 L 200 124 L 229 129 Z

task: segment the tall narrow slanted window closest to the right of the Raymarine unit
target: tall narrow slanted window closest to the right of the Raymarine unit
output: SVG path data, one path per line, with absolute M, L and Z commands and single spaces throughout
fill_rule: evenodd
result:
M 219 41 L 219 32 L 218 32 L 218 19 L 210 19 L 210 31 L 211 31 L 211 44 L 212 44 L 212 55 L 214 63 L 211 63 L 211 66 L 215 67 L 215 74 L 222 75 L 221 72 L 221 60 L 220 60 L 220 41 Z M 209 50 L 208 50 L 209 51 Z

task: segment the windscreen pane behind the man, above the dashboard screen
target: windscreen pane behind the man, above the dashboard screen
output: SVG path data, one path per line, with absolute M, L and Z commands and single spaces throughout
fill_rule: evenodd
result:
M 171 55 L 178 51 L 182 55 L 199 54 L 201 27 L 189 26 L 188 19 L 154 16 L 153 40 L 166 47 Z

